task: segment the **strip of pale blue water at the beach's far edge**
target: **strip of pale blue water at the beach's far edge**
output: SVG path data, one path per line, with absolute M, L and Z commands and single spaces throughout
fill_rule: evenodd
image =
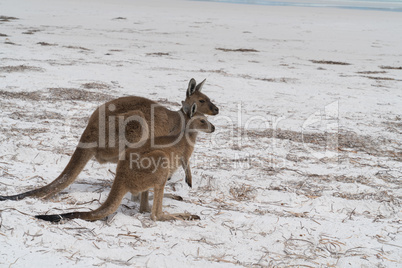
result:
M 402 12 L 402 0 L 192 0 L 267 6 L 332 7 Z

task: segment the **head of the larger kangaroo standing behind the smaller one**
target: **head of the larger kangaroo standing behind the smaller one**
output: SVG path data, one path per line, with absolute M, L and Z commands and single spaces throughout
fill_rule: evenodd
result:
M 219 108 L 211 102 L 207 95 L 201 93 L 205 80 L 197 85 L 194 78 L 191 78 L 188 83 L 186 100 L 184 102 L 189 106 L 196 103 L 198 112 L 202 114 L 216 115 L 219 113 Z

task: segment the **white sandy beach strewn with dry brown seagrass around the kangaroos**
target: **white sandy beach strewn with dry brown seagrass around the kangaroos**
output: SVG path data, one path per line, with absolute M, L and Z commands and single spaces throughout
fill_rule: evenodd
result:
M 127 195 L 95 222 L 115 164 L 49 200 L 0 202 L 0 267 L 400 267 L 400 12 L 200 1 L 0 2 L 0 195 L 46 185 L 100 104 L 180 109 L 188 81 L 217 130 L 153 222 Z M 398 32 L 399 31 L 399 32 Z

